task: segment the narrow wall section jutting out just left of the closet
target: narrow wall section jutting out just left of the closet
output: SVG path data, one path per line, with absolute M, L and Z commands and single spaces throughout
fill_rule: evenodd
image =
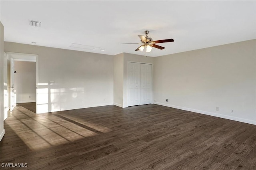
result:
M 124 53 L 114 55 L 114 105 L 123 107 Z

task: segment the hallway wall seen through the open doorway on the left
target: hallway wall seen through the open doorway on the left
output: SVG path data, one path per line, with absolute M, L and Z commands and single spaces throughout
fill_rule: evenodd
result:
M 16 103 L 36 101 L 36 62 L 14 61 Z

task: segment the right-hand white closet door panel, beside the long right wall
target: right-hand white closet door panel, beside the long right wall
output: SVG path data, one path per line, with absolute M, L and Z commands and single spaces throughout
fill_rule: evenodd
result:
M 140 105 L 152 103 L 152 65 L 140 64 Z

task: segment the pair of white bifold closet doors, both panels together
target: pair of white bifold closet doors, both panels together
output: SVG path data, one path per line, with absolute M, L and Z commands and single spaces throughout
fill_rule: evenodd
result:
M 152 65 L 128 62 L 127 105 L 152 103 Z

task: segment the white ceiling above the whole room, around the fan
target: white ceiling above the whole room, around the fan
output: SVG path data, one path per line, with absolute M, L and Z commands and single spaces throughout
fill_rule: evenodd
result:
M 256 1 L 1 1 L 4 41 L 116 55 L 149 30 L 161 56 L 256 38 Z M 28 20 L 42 22 L 41 28 Z M 71 43 L 96 49 L 69 47 Z M 100 51 L 105 49 L 105 51 Z

